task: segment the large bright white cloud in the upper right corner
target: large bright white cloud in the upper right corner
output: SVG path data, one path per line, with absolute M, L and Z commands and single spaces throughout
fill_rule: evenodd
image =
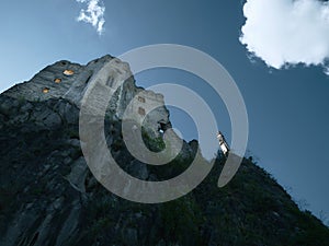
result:
M 240 42 L 275 69 L 322 66 L 329 74 L 329 2 L 247 0 Z

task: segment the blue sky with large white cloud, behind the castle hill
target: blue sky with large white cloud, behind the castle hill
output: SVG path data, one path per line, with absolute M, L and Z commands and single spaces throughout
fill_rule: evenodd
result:
M 249 0 L 247 25 L 245 1 L 106 0 L 99 1 L 105 8 L 105 23 L 99 34 L 98 25 L 77 21 L 88 2 L 2 2 L 0 91 L 30 80 L 57 60 L 87 63 L 106 54 L 120 56 L 159 43 L 197 48 L 218 60 L 239 86 L 250 124 L 248 150 L 259 165 L 273 174 L 295 200 L 305 200 L 306 209 L 329 216 L 329 75 L 324 72 L 329 38 L 321 34 L 327 28 L 326 19 L 315 17 L 326 15 L 326 8 L 311 3 L 315 0 L 299 0 L 299 5 L 280 0 L 268 8 L 260 0 Z M 286 23 L 293 27 L 286 30 Z M 220 130 L 230 139 L 223 102 L 198 78 L 159 69 L 140 73 L 136 80 L 141 86 L 163 81 L 191 86 L 207 98 Z M 195 128 L 184 122 L 190 122 L 188 117 L 179 117 L 175 112 L 174 126 L 188 140 L 196 138 Z

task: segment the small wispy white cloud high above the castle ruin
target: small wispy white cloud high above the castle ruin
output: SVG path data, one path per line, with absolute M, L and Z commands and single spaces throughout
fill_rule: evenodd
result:
M 101 0 L 76 0 L 77 2 L 87 3 L 87 9 L 82 9 L 77 19 L 79 22 L 92 24 L 99 34 L 104 31 L 105 7 Z

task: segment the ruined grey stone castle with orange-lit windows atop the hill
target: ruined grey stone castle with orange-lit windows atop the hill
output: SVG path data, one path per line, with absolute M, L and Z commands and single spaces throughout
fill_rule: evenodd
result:
M 104 83 L 104 86 L 113 90 L 109 104 L 109 114 L 112 113 L 116 118 L 123 119 L 128 104 L 138 94 L 138 98 L 129 107 L 137 117 L 135 119 L 138 121 L 138 116 L 143 118 L 148 113 L 145 107 L 156 107 L 146 117 L 145 122 L 140 122 L 140 125 L 146 125 L 145 128 L 151 130 L 149 133 L 156 137 L 159 129 L 166 130 L 171 128 L 169 112 L 164 107 L 163 96 L 152 91 L 137 87 L 128 63 L 109 55 L 95 59 L 86 66 L 71 63 L 67 60 L 58 61 L 43 69 L 32 80 L 5 91 L 3 95 L 15 98 L 19 102 L 67 99 L 80 108 L 88 85 L 93 80 L 99 80 L 101 81 L 100 84 Z M 105 104 L 107 99 L 104 96 L 95 95 L 94 97 L 100 105 Z M 147 104 L 145 104 L 146 101 Z M 5 107 L 5 105 L 2 107 Z

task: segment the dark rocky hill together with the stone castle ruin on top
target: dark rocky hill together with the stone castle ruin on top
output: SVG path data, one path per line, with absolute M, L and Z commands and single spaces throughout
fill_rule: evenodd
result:
M 131 202 L 103 188 L 81 151 L 79 113 L 88 83 L 112 59 L 105 56 L 86 66 L 59 61 L 1 94 L 1 246 L 329 245 L 328 227 L 299 211 L 251 159 L 243 159 L 235 178 L 219 189 L 225 160 L 218 155 L 211 175 L 193 192 L 166 203 Z M 166 166 L 147 165 L 129 154 L 121 133 L 129 101 L 143 92 L 144 99 L 159 103 L 143 132 L 152 151 L 163 149 L 159 129 L 170 129 L 169 112 L 161 95 L 135 85 L 127 63 L 114 62 L 106 71 L 106 83 L 125 81 L 115 89 L 104 119 L 107 145 L 121 167 L 154 181 L 186 169 L 196 141 L 184 142 L 182 154 Z

